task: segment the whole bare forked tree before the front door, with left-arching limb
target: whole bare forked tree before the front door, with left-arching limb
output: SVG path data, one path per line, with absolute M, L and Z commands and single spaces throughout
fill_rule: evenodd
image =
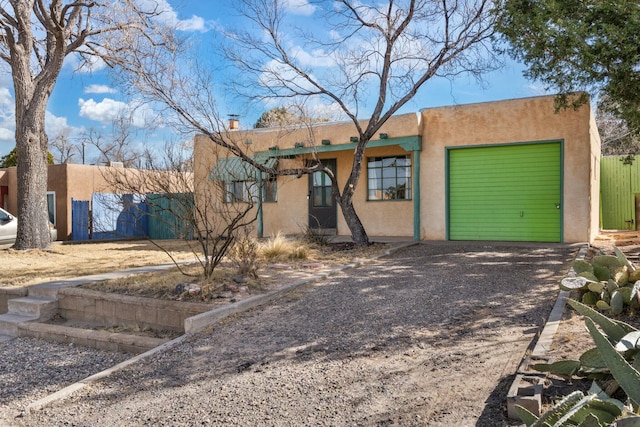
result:
M 351 120 L 358 134 L 351 173 L 339 188 L 335 176 L 316 158 L 315 163 L 290 170 L 268 170 L 234 142 L 219 120 L 211 69 L 201 58 L 185 73 L 174 48 L 164 57 L 144 55 L 131 87 L 160 101 L 181 119 L 185 129 L 208 136 L 214 144 L 272 175 L 308 174 L 323 170 L 353 240 L 369 238 L 353 205 L 368 142 L 384 123 L 407 104 L 432 78 L 461 74 L 480 76 L 499 64 L 491 37 L 495 22 L 491 0 L 391 0 L 369 5 L 355 0 L 312 3 L 320 16 L 314 31 L 296 27 L 287 14 L 286 0 L 240 0 L 245 30 L 225 34 L 227 58 L 238 92 L 250 99 L 311 105 L 314 100 L 336 107 Z M 295 38 L 294 38 L 295 36 Z M 299 41 L 299 45 L 295 42 Z M 302 47 L 304 47 L 304 51 Z M 305 52 L 313 61 L 305 62 Z M 371 102 L 367 102 L 369 100 Z M 366 112 L 366 120 L 360 115 Z

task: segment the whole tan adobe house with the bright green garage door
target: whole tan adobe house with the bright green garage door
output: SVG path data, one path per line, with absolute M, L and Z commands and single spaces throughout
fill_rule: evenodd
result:
M 317 155 L 340 186 L 351 171 L 352 123 L 228 133 L 279 169 Z M 242 202 L 259 181 L 258 234 L 306 227 L 350 235 L 328 178 L 230 174 L 205 136 L 194 141 L 195 179 Z M 542 96 L 424 109 L 390 119 L 365 152 L 354 204 L 370 237 L 414 240 L 592 242 L 599 231 L 600 138 L 589 105 L 554 111 Z M 255 194 L 254 194 L 255 196 Z

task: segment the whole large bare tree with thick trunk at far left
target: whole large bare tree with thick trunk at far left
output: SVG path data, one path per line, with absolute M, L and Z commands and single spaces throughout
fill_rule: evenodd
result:
M 65 58 L 120 62 L 121 52 L 153 39 L 155 10 L 134 0 L 0 1 L 0 59 L 13 78 L 18 149 L 17 249 L 50 244 L 46 209 L 45 110 Z M 133 38 L 132 38 L 133 37 Z

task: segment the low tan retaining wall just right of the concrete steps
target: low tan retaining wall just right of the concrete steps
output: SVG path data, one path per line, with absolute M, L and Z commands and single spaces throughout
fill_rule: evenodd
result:
M 184 332 L 184 320 L 187 317 L 210 309 L 211 306 L 207 304 L 156 300 L 79 288 L 64 288 L 58 293 L 58 313 L 62 317 L 99 325 Z

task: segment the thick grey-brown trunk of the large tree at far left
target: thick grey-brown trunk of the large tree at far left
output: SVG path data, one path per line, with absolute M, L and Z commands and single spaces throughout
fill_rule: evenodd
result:
M 16 148 L 18 235 L 14 248 L 47 249 L 51 236 L 47 211 L 48 143 L 44 132 L 44 107 L 29 109 L 17 123 Z

